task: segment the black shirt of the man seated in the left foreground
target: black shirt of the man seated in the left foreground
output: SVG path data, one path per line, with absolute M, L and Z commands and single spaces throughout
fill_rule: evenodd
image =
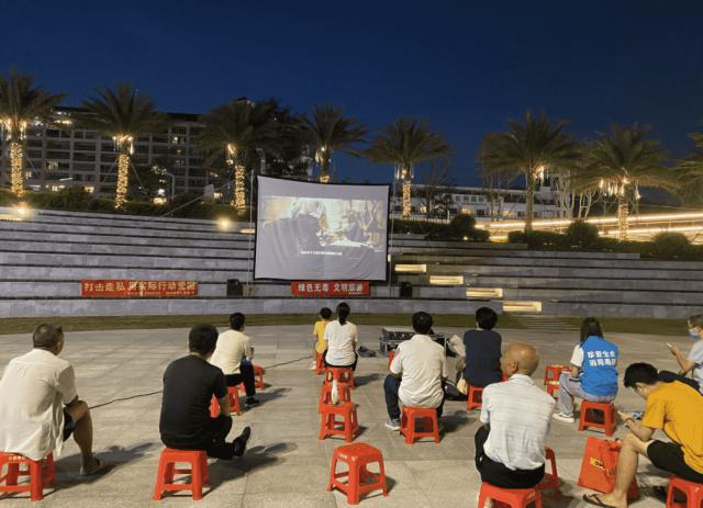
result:
M 193 449 L 209 429 L 212 396 L 222 398 L 226 393 L 219 368 L 194 355 L 174 361 L 164 373 L 161 441 L 167 447 Z

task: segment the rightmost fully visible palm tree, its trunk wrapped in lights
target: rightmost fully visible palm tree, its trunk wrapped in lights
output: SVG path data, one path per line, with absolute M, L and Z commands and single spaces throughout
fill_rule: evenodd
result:
M 665 167 L 667 153 L 659 142 L 646 139 L 647 127 L 613 125 L 611 133 L 588 148 L 585 169 L 606 195 L 617 197 L 617 238 L 627 239 L 629 201 L 639 199 L 640 187 L 674 190 L 677 173 Z

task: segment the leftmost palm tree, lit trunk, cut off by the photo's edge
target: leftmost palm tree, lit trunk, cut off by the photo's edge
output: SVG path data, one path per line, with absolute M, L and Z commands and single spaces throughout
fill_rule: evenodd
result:
M 34 121 L 49 121 L 52 111 L 64 94 L 51 94 L 32 87 L 34 78 L 10 70 L 9 77 L 0 75 L 0 126 L 4 139 L 10 143 L 10 181 L 12 192 L 24 195 L 24 133 Z

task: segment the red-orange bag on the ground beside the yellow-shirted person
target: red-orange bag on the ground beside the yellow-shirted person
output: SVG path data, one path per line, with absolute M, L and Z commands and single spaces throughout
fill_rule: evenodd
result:
M 585 450 L 583 451 L 583 461 L 581 462 L 579 486 L 603 494 L 613 492 L 620 449 L 620 441 L 588 438 L 585 440 Z M 638 498 L 639 488 L 635 477 L 627 489 L 627 499 L 634 500 Z

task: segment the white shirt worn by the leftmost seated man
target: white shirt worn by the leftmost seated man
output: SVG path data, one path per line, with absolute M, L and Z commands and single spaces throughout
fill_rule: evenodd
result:
M 64 406 L 76 398 L 74 368 L 44 349 L 10 360 L 0 380 L 0 450 L 38 461 L 64 444 Z

